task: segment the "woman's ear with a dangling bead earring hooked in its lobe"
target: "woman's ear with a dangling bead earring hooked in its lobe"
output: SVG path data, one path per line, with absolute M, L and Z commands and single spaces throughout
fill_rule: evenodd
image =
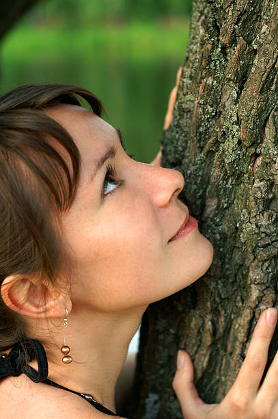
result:
M 58 290 L 40 275 L 16 274 L 6 277 L 1 284 L 2 299 L 10 309 L 23 316 L 62 317 L 70 313 L 72 302 L 68 292 Z

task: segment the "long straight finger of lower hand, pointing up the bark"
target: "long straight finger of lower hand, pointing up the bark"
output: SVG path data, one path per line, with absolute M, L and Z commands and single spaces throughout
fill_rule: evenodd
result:
M 275 330 L 277 310 L 267 309 L 258 321 L 251 339 L 245 361 L 240 368 L 232 390 L 236 394 L 250 398 L 255 396 L 264 373 L 268 356 L 268 346 Z

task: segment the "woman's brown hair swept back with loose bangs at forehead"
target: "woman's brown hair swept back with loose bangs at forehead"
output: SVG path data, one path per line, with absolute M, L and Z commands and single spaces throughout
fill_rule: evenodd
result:
M 61 246 L 53 213 L 74 200 L 80 156 L 66 129 L 42 111 L 84 102 L 101 116 L 100 101 L 77 86 L 21 86 L 0 97 L 0 286 L 14 274 L 40 272 L 55 280 Z M 70 168 L 49 138 L 65 149 Z M 0 295 L 0 351 L 24 338 L 23 318 Z

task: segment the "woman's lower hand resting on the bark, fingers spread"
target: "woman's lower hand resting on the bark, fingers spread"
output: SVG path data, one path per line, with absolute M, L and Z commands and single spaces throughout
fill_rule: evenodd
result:
M 278 418 L 277 354 L 259 388 L 276 322 L 276 309 L 270 308 L 260 316 L 236 382 L 219 405 L 207 405 L 201 401 L 193 384 L 191 359 L 185 351 L 179 351 L 173 389 L 184 419 Z

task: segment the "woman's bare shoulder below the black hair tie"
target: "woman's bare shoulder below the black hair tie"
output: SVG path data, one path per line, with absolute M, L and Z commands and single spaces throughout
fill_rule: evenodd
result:
M 24 374 L 0 382 L 0 419 L 107 419 L 87 401 L 43 383 L 33 383 Z M 111 416 L 112 418 L 113 416 Z

